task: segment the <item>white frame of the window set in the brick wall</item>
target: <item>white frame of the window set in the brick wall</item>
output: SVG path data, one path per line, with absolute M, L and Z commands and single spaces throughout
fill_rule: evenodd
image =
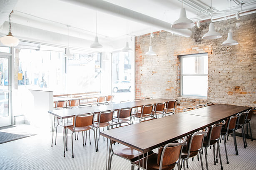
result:
M 208 61 L 208 57 L 209 57 L 208 53 L 188 54 L 188 55 L 179 56 L 179 59 L 180 59 L 180 96 L 181 97 L 207 99 L 208 94 L 207 94 L 207 96 L 183 95 L 183 91 L 182 91 L 183 90 L 183 76 L 207 76 L 207 80 L 208 80 L 208 68 L 207 68 L 207 74 L 183 74 L 183 58 L 202 57 L 202 56 L 207 56 L 207 61 Z M 207 89 L 208 89 L 208 82 L 207 82 Z

